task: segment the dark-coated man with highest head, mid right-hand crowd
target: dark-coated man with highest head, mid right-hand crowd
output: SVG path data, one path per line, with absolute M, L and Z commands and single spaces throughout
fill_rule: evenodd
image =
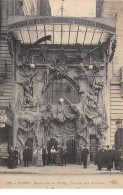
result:
M 107 150 L 106 150 L 106 163 L 107 163 L 107 170 L 111 171 L 113 165 L 112 165 L 112 152 L 109 148 L 109 145 L 107 145 Z

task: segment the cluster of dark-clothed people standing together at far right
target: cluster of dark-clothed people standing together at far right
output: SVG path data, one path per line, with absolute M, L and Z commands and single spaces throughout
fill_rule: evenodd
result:
M 108 171 L 111 169 L 123 170 L 123 155 L 121 149 L 115 149 L 115 146 L 110 149 L 109 145 L 107 148 L 99 148 L 95 156 L 95 165 L 98 166 L 98 170 L 107 168 Z

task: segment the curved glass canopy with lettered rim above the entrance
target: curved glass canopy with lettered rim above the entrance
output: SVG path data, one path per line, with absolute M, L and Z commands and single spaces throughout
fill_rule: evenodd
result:
M 23 20 L 9 25 L 16 40 L 33 44 L 38 39 L 51 35 L 46 44 L 98 45 L 115 34 L 115 27 L 88 18 L 44 17 Z M 42 42 L 44 44 L 44 42 Z

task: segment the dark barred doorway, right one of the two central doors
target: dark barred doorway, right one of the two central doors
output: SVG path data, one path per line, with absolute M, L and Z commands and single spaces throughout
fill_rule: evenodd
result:
M 76 162 L 76 140 L 67 140 L 67 162 L 74 164 Z

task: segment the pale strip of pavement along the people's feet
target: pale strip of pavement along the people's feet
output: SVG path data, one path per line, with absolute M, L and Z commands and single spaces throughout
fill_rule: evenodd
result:
M 86 169 L 82 165 L 71 165 L 65 166 L 41 166 L 36 167 L 29 165 L 29 167 L 18 166 L 15 169 L 8 169 L 7 167 L 0 167 L 0 174 L 37 174 L 37 175 L 113 175 L 113 174 L 123 174 L 120 170 L 107 171 L 103 168 L 102 171 L 97 169 L 94 164 L 89 164 Z

